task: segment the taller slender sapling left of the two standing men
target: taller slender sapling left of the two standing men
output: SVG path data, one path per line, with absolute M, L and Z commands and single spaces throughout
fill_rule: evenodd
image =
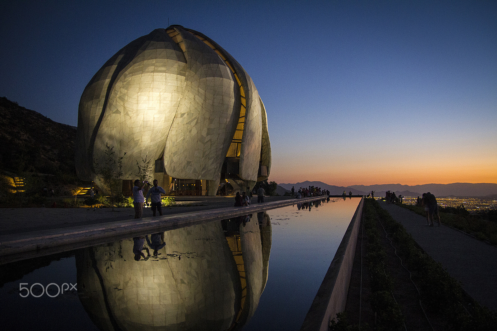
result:
M 96 159 L 94 160 L 95 173 L 100 178 L 102 183 L 110 190 L 110 204 L 112 205 L 112 211 L 114 211 L 114 195 L 117 192 L 117 188 L 120 184 L 120 178 L 123 175 L 122 171 L 122 160 L 124 155 L 116 160 L 113 151 L 114 146 L 110 147 L 105 143 L 105 158 L 99 163 Z

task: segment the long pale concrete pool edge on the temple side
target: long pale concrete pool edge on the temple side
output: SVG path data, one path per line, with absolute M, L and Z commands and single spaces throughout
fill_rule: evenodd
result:
M 325 195 L 302 199 L 279 200 L 252 204 L 246 207 L 209 209 L 169 216 L 40 230 L 15 235 L 1 235 L 0 264 L 50 255 L 66 250 L 90 247 L 119 239 L 132 238 L 143 235 L 144 233 L 152 234 L 159 232 L 159 230 L 168 231 L 326 198 L 328 196 Z

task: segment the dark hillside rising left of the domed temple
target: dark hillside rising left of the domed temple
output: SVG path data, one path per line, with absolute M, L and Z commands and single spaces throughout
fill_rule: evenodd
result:
M 0 97 L 0 168 L 76 177 L 76 127 Z

